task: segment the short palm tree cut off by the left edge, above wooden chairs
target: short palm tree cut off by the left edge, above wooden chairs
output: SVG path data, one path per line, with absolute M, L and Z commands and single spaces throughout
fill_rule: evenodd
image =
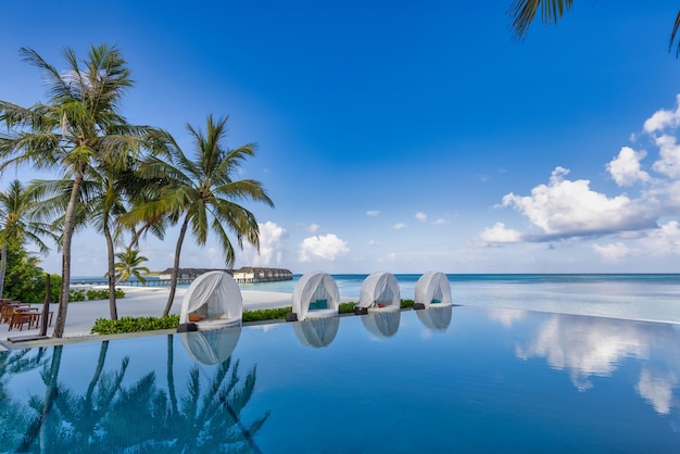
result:
M 32 241 L 38 245 L 40 252 L 47 252 L 49 248 L 40 236 L 54 238 L 46 224 L 29 219 L 38 203 L 37 192 L 26 189 L 18 180 L 12 181 L 5 192 L 0 192 L 0 295 L 4 288 L 8 245 L 21 248 L 26 241 Z

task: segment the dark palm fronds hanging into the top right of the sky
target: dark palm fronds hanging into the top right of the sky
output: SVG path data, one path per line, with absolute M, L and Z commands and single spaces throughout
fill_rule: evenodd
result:
M 533 23 L 539 9 L 541 10 L 541 22 L 543 24 L 556 24 L 562 16 L 574 5 L 574 0 L 514 0 L 507 10 L 515 30 L 515 39 L 524 39 L 529 31 L 529 26 Z M 676 37 L 680 30 L 680 11 L 676 16 L 668 51 L 671 51 Z M 676 47 L 676 58 L 680 55 L 680 41 Z

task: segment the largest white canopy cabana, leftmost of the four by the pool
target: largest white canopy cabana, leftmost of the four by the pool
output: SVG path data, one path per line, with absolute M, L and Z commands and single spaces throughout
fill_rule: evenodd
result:
M 199 329 L 240 326 L 243 317 L 241 290 L 225 272 L 209 272 L 191 282 L 181 301 L 179 323 L 196 323 Z

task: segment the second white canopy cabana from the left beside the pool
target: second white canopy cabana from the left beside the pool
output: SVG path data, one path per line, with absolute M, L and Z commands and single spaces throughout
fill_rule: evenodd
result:
M 293 289 L 292 312 L 298 315 L 298 320 L 338 315 L 339 305 L 338 285 L 327 273 L 307 273 Z

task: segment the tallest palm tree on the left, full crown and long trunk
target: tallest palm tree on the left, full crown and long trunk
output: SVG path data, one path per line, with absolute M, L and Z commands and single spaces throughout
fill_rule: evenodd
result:
M 10 133 L 0 135 L 0 172 L 30 163 L 35 168 L 62 168 L 72 182 L 62 237 L 62 286 L 54 337 L 66 323 L 71 281 L 71 243 L 83 182 L 89 169 L 124 167 L 150 131 L 130 126 L 119 114 L 124 92 L 133 86 L 127 63 L 115 47 L 92 46 L 80 64 L 72 49 L 64 50 L 66 72 L 59 72 L 36 51 L 21 49 L 29 64 L 47 80 L 49 103 L 22 108 L 0 101 L 0 122 Z

